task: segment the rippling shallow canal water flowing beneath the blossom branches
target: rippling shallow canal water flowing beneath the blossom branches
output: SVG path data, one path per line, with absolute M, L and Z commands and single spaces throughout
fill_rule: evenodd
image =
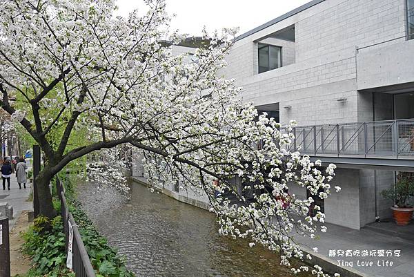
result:
M 212 213 L 140 184 L 131 185 L 130 200 L 92 184 L 78 198 L 136 276 L 294 276 L 273 252 L 219 236 Z

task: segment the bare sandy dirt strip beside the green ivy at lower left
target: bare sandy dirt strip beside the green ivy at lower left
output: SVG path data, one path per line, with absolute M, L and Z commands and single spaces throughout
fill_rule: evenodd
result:
M 21 253 L 23 238 L 21 233 L 28 231 L 31 222 L 28 222 L 28 211 L 21 211 L 10 231 L 10 269 L 11 276 L 24 276 L 30 269 L 30 258 Z

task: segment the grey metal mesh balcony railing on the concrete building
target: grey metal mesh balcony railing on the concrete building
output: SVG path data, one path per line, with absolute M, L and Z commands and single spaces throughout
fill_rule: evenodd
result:
M 289 150 L 308 155 L 414 159 L 414 119 L 297 126 L 291 132 Z

